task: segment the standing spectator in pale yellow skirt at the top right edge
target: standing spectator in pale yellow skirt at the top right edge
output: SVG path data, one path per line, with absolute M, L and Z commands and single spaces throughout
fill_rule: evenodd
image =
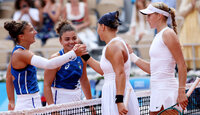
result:
M 179 38 L 182 45 L 184 44 L 200 44 L 200 22 L 198 15 L 200 14 L 200 0 L 182 0 L 179 14 L 184 17 L 184 23 L 181 28 Z M 191 46 L 183 46 L 183 55 L 186 60 L 188 69 L 192 69 L 193 58 L 200 58 L 200 46 L 195 46 L 195 57 L 193 57 L 193 49 Z M 200 60 L 195 60 L 196 67 L 200 69 Z

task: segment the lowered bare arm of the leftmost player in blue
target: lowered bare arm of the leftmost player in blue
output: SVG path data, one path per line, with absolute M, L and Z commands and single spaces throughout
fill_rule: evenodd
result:
M 14 94 L 14 84 L 13 76 L 11 74 L 11 64 L 9 63 L 7 73 L 6 73 L 6 91 L 8 96 L 8 110 L 14 110 L 15 108 L 15 94 Z

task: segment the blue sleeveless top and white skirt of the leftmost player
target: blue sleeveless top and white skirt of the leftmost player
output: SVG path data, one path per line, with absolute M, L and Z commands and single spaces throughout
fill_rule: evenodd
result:
M 12 54 L 19 48 L 25 50 L 23 46 L 16 45 Z M 23 69 L 14 69 L 11 64 L 11 74 L 15 78 L 13 84 L 17 94 L 15 110 L 40 107 L 41 101 L 38 93 L 39 87 L 37 83 L 36 67 L 27 65 Z

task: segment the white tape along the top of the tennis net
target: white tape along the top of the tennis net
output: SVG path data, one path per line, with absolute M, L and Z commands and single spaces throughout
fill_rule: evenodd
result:
M 187 84 L 186 90 L 189 89 L 191 87 L 191 85 L 192 85 L 192 83 Z M 197 88 L 199 88 L 199 87 L 200 87 L 200 84 L 197 85 Z M 149 97 L 150 93 L 151 93 L 150 90 L 137 91 L 136 95 L 138 98 L 143 98 L 143 97 Z M 148 112 L 148 108 L 149 108 L 148 99 L 142 103 L 143 103 L 143 105 L 140 106 L 141 114 Z M 46 106 L 46 107 L 42 107 L 42 108 L 23 110 L 23 111 L 0 112 L 0 115 L 34 115 L 34 114 L 51 113 L 51 112 L 55 112 L 55 111 L 62 111 L 62 110 L 68 110 L 68 109 L 80 108 L 80 107 L 86 107 L 86 106 L 92 106 L 92 105 L 98 105 L 98 104 L 101 104 L 101 98 L 76 101 L 76 102 L 71 102 L 71 103 L 66 103 L 66 104 L 50 105 L 50 106 Z

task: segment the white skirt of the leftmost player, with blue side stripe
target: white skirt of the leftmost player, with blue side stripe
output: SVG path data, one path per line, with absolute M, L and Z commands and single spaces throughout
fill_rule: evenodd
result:
M 15 110 L 26 110 L 42 107 L 39 92 L 34 94 L 17 95 Z

